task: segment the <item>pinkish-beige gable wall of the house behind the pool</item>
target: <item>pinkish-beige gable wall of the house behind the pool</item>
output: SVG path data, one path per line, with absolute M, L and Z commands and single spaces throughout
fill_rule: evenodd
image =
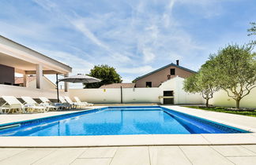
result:
M 152 82 L 152 87 L 158 87 L 161 83 L 168 80 L 168 75 L 170 75 L 170 69 L 175 68 L 175 75 L 171 75 L 171 79 L 174 78 L 176 75 L 179 75 L 179 77 L 186 78 L 190 75 L 193 75 L 193 73 L 188 72 L 186 70 L 183 70 L 181 68 L 177 68 L 175 66 L 170 66 L 168 68 L 164 68 L 160 70 L 159 72 L 155 72 L 152 75 L 148 75 L 142 79 L 138 79 L 136 82 L 136 87 L 146 87 L 146 82 Z

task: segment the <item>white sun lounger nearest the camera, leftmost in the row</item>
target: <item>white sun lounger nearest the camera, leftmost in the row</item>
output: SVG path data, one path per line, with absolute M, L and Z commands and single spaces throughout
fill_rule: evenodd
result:
M 3 108 L 8 108 L 6 110 L 6 113 L 10 112 L 22 112 L 22 113 L 28 113 L 28 112 L 33 112 L 37 107 L 36 106 L 28 106 L 28 105 L 23 105 L 21 101 L 18 101 L 16 97 L 13 96 L 2 96 L 4 101 L 6 103 L 2 105 Z

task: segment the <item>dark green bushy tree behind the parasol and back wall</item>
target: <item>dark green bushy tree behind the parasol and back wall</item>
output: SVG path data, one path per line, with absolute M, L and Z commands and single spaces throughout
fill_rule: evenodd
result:
M 111 83 L 122 83 L 121 76 L 115 71 L 115 68 L 107 64 L 94 66 L 89 76 L 101 79 L 100 83 L 84 83 L 85 88 L 99 88 L 100 86 Z

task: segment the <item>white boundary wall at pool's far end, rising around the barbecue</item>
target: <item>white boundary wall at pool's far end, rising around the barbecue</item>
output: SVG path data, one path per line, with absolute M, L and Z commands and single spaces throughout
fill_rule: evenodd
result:
M 200 94 L 188 94 L 183 90 L 183 78 L 175 77 L 158 88 L 123 88 L 122 103 L 162 103 L 164 90 L 173 90 L 175 105 L 202 104 Z M 121 103 L 121 90 L 112 89 L 70 89 L 70 97 L 77 96 L 81 101 L 91 103 Z

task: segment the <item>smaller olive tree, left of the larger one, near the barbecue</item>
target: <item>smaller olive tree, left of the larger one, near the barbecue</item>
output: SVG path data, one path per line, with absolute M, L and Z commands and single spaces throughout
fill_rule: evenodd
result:
M 185 79 L 183 89 L 189 93 L 200 93 L 206 100 L 206 107 L 209 106 L 209 100 L 213 98 L 214 92 L 219 90 L 216 85 L 216 72 L 212 61 L 206 61 L 198 73 Z

